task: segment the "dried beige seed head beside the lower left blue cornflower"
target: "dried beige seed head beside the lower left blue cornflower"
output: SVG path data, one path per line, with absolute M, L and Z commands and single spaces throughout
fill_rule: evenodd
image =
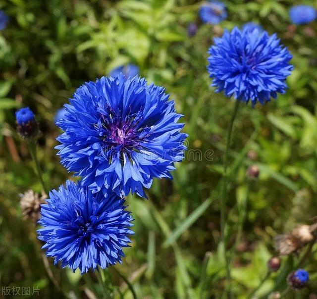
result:
M 20 205 L 25 219 L 31 219 L 36 222 L 40 218 L 40 204 L 45 203 L 47 195 L 42 193 L 42 196 L 39 197 L 38 194 L 34 193 L 32 190 L 26 191 L 24 194 L 21 194 Z

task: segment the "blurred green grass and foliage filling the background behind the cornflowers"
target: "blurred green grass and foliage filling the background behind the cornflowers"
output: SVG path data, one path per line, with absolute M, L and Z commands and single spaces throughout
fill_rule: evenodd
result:
M 41 185 L 26 143 L 15 132 L 14 110 L 27 105 L 36 112 L 44 179 L 56 188 L 71 174 L 56 157 L 60 132 L 53 122 L 55 111 L 83 82 L 134 63 L 140 75 L 164 86 L 175 99 L 178 112 L 185 115 L 189 150 L 213 154 L 207 160 L 187 153 L 172 182 L 154 182 L 149 201 L 128 198 L 135 235 L 123 265 L 115 268 L 130 277 L 138 298 L 221 297 L 225 271 L 224 249 L 218 246 L 218 199 L 233 101 L 210 87 L 207 50 L 224 28 L 249 21 L 282 39 L 294 55 L 294 71 L 287 94 L 265 106 L 243 106 L 235 123 L 226 231 L 227 250 L 240 238 L 232 260 L 235 298 L 246 298 L 265 276 L 266 262 L 276 254 L 276 234 L 311 223 L 317 214 L 317 24 L 292 25 L 288 9 L 293 0 L 223 2 L 228 18 L 211 26 L 201 24 L 201 2 L 191 0 L 0 0 L 0 9 L 10 17 L 0 32 L 1 287 L 35 286 L 40 298 L 62 296 L 47 274 L 36 227 L 23 220 L 19 207 L 18 194 L 40 192 Z M 303 2 L 316 5 L 314 0 Z M 190 22 L 199 25 L 192 38 L 186 32 Z M 257 153 L 255 160 L 247 155 L 250 149 Z M 253 164 L 260 177 L 250 181 L 246 169 Z M 307 260 L 309 290 L 298 298 L 317 293 L 316 257 Z M 93 273 L 81 277 L 49 263 L 62 293 L 102 297 Z M 283 270 L 272 274 L 257 295 L 284 290 L 292 267 L 293 259 L 283 258 Z M 132 298 L 117 273 L 108 273 L 122 298 Z

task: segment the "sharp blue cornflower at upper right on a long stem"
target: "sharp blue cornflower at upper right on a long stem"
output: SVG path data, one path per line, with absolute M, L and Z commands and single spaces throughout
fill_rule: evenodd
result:
M 208 71 L 216 92 L 223 90 L 227 97 L 251 100 L 253 105 L 285 93 L 285 80 L 293 69 L 289 64 L 292 55 L 282 48 L 276 34 L 268 36 L 258 30 L 250 33 L 235 27 L 215 38 L 209 53 Z

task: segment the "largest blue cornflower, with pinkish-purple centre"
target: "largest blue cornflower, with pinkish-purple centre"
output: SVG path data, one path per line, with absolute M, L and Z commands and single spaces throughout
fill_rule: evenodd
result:
M 165 90 L 138 77 L 102 77 L 77 89 L 57 125 L 61 163 L 93 192 L 146 197 L 184 158 L 184 124 Z

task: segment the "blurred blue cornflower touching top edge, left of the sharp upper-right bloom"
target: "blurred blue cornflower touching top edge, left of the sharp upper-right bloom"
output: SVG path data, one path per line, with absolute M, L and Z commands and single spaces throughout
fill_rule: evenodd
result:
M 207 1 L 199 10 L 204 23 L 218 24 L 227 18 L 226 5 L 220 1 Z

